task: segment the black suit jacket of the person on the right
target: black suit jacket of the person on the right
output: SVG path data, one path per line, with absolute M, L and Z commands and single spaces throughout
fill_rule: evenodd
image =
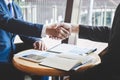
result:
M 120 80 L 120 4 L 116 9 L 111 29 L 80 25 L 79 38 L 108 42 L 108 49 L 101 58 L 101 64 L 82 74 L 75 74 L 73 79 Z

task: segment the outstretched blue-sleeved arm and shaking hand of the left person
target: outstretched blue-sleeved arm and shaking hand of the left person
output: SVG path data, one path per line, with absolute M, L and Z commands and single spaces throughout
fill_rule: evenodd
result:
M 17 16 L 20 17 L 20 15 L 18 15 L 20 10 L 19 9 L 16 10 L 18 10 Z M 26 22 L 19 19 L 18 17 L 17 19 L 12 18 L 8 14 L 7 7 L 4 6 L 3 1 L 0 1 L 0 29 L 19 35 L 39 37 L 39 38 L 41 37 L 43 24 L 34 24 L 34 23 Z M 56 30 L 56 25 L 57 24 L 47 25 L 45 29 L 45 34 L 49 36 L 52 35 L 60 39 L 64 38 L 64 33 L 58 32 Z

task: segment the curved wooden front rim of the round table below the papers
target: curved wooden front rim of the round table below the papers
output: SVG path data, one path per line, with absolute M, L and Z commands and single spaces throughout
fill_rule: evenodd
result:
M 18 53 L 19 54 L 19 53 Z M 77 71 L 87 70 L 101 62 L 100 57 L 97 54 L 91 54 L 95 58 L 92 63 L 84 64 Z M 18 56 L 13 57 L 14 66 L 24 72 L 40 75 L 40 76 L 67 76 L 76 71 L 62 71 L 54 68 L 41 66 L 38 63 L 20 59 Z

